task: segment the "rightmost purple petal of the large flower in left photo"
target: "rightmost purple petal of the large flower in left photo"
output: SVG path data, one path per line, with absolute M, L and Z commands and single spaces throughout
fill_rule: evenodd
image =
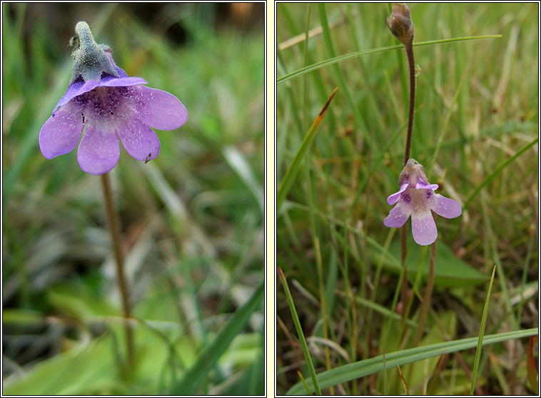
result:
M 158 130 L 174 130 L 188 120 L 188 112 L 181 101 L 166 91 L 138 86 L 135 111 L 141 121 Z

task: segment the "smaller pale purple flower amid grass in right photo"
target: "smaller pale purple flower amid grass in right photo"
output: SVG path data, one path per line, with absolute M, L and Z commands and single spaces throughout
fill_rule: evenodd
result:
M 430 245 L 438 237 L 438 229 L 432 213 L 445 218 L 455 218 L 462 214 L 460 205 L 438 193 L 438 184 L 430 184 L 423 166 L 417 160 L 409 159 L 398 178 L 400 190 L 387 198 L 389 205 L 397 204 L 389 212 L 383 224 L 389 228 L 400 228 L 411 215 L 413 239 L 419 245 Z

